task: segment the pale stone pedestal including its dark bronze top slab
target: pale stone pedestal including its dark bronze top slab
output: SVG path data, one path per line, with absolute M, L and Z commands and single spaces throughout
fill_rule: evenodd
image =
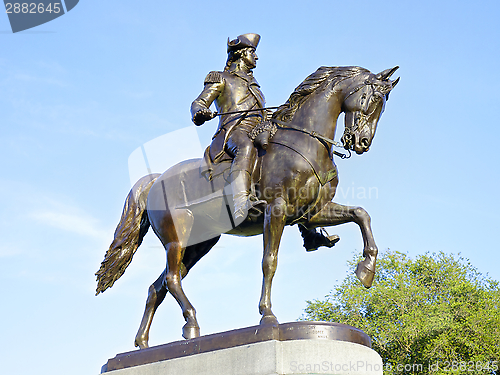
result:
M 122 353 L 105 375 L 382 375 L 362 331 L 343 324 L 255 326 Z

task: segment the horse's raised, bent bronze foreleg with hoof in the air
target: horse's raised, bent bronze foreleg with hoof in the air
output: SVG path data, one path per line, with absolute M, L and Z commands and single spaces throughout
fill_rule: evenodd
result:
M 307 227 L 318 227 L 349 222 L 355 222 L 361 229 L 364 243 L 363 256 L 365 259 L 358 263 L 356 276 L 365 287 L 369 288 L 372 286 L 373 277 L 375 276 L 378 249 L 373 238 L 370 215 L 363 208 L 329 202 L 305 225 Z

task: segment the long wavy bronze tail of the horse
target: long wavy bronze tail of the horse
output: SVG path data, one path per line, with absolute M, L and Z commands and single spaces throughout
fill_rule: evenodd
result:
M 151 186 L 160 176 L 153 173 L 142 177 L 130 190 L 125 200 L 122 217 L 115 230 L 115 238 L 109 246 L 101 268 L 96 272 L 96 295 L 111 288 L 132 261 L 137 248 L 142 243 L 150 223 L 146 203 Z

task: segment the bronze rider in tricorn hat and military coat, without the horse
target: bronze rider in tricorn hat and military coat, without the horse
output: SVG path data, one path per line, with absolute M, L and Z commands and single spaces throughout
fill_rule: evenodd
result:
M 219 113 L 257 109 L 220 116 L 219 127 L 210 145 L 209 157 L 213 163 L 219 162 L 225 153 L 233 158 L 229 181 L 233 192 L 234 219 L 240 222 L 249 210 L 266 203 L 251 193 L 251 174 L 257 149 L 248 137 L 248 133 L 267 117 L 264 94 L 252 72 L 257 65 L 255 49 L 259 40 L 258 34 L 243 34 L 232 41 L 228 39 L 224 71 L 208 73 L 203 91 L 191 104 L 192 120 L 198 126 L 215 117 L 209 109 L 214 101 Z M 263 110 L 258 111 L 259 108 Z M 324 236 L 302 225 L 299 229 L 308 251 L 319 246 L 331 247 L 338 241 L 338 236 Z

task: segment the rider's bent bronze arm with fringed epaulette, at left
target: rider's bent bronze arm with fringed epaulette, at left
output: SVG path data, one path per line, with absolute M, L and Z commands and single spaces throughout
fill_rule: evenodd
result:
M 208 73 L 203 91 L 191 104 L 191 116 L 196 125 L 202 125 L 214 117 L 209 108 L 222 92 L 224 83 L 220 72 Z

